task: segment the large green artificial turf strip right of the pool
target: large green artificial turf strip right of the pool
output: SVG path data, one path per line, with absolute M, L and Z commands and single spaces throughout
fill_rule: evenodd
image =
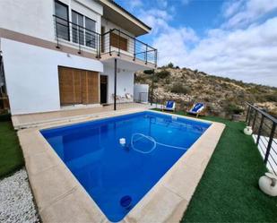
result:
M 201 118 L 226 127 L 181 222 L 276 222 L 277 198 L 259 190 L 266 168 L 245 124 Z

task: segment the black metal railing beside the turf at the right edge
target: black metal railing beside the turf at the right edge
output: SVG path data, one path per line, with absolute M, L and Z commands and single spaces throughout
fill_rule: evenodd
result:
M 247 103 L 246 123 L 253 129 L 253 138 L 260 150 L 264 164 L 277 172 L 277 119 L 259 107 Z

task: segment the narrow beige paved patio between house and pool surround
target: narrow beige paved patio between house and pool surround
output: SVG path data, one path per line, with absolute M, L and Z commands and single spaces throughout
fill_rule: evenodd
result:
M 117 104 L 117 110 L 133 110 L 133 109 L 145 109 L 151 108 L 149 104 L 140 103 L 122 103 Z M 67 109 L 46 112 L 46 113 L 35 113 L 27 115 L 16 115 L 12 116 L 14 129 L 22 129 L 29 127 L 41 126 L 43 124 L 53 124 L 66 121 L 73 121 L 78 119 L 90 118 L 98 116 L 100 114 L 109 113 L 113 111 L 114 105 L 100 106 L 100 107 L 68 107 Z

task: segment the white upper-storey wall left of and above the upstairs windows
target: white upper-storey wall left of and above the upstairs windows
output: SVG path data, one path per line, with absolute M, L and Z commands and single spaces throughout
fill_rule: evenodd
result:
M 71 9 L 96 21 L 100 32 L 103 8 L 93 0 L 60 0 Z M 0 0 L 0 28 L 13 30 L 39 39 L 55 41 L 54 0 Z M 70 20 L 71 21 L 71 20 Z

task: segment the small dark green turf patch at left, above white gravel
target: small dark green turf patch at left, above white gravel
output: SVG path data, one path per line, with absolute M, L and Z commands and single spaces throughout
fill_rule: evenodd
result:
M 0 178 L 24 165 L 22 149 L 11 122 L 0 122 Z

